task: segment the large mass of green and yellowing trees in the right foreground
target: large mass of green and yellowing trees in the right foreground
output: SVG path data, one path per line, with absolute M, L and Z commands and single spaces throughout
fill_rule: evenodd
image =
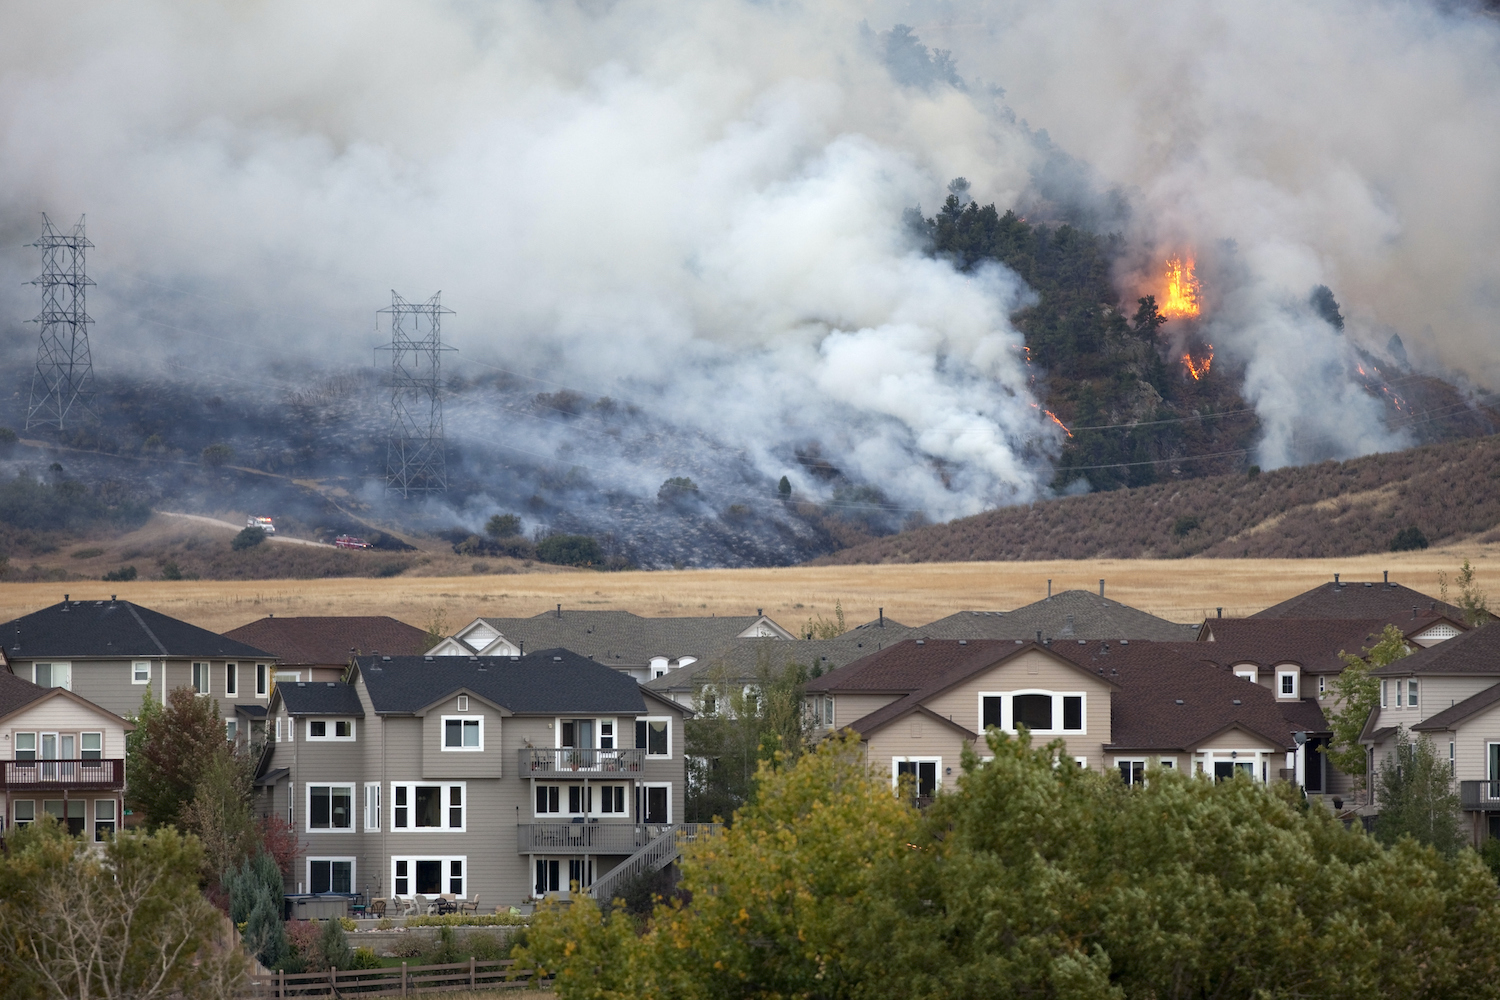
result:
M 856 741 L 765 763 L 672 903 L 584 898 L 518 958 L 558 996 L 1494 997 L 1500 894 L 1472 850 L 1384 847 L 1290 786 L 1144 786 L 988 735 L 926 811 Z

